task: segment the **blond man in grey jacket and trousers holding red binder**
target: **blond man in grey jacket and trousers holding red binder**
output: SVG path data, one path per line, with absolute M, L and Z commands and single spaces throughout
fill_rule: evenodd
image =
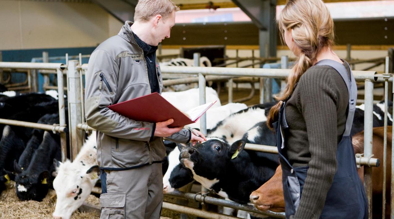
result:
M 206 140 L 173 122 L 130 120 L 109 105 L 161 93 L 157 45 L 170 37 L 179 8 L 171 0 L 139 0 L 134 23 L 126 21 L 118 35 L 93 51 L 85 86 L 87 124 L 97 130 L 101 169 L 101 216 L 108 219 L 158 219 L 163 202 L 163 137 L 180 143 Z M 165 109 L 157 109 L 160 113 Z M 111 218 L 111 217 L 110 217 Z

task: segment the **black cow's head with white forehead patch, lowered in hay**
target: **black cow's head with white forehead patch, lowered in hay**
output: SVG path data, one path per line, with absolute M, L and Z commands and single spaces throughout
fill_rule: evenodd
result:
M 49 171 L 45 170 L 39 174 L 22 171 L 17 161 L 14 161 L 15 187 L 20 200 L 35 200 L 41 202 L 48 194 Z

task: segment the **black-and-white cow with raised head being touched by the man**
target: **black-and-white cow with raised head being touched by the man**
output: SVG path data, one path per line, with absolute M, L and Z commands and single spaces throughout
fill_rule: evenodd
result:
M 184 148 L 180 161 L 204 187 L 246 204 L 251 192 L 273 176 L 279 160 L 277 154 L 243 150 L 245 143 L 275 146 L 275 134 L 266 122 L 259 122 L 231 145 L 223 138 L 211 138 Z

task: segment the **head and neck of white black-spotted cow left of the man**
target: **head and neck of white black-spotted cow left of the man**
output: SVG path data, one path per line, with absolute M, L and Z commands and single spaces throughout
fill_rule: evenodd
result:
M 89 135 L 73 162 L 69 160 L 56 165 L 56 178 L 53 187 L 56 191 L 55 219 L 69 219 L 90 195 L 99 179 L 97 165 L 96 132 Z

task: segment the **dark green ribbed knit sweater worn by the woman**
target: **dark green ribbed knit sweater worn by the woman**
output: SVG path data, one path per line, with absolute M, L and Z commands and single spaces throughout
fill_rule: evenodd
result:
M 336 147 L 345 131 L 348 98 L 346 84 L 335 69 L 312 66 L 301 76 L 286 104 L 288 159 L 293 167 L 309 165 L 292 218 L 314 219 L 322 213 L 336 172 Z

